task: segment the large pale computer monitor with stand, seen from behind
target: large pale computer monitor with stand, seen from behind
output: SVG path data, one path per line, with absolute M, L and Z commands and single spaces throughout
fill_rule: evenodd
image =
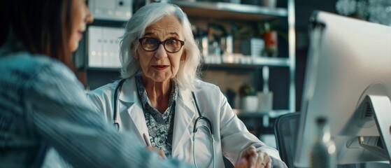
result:
M 391 27 L 323 11 L 310 27 L 295 167 L 309 167 L 319 116 L 329 121 L 339 165 L 389 161 Z

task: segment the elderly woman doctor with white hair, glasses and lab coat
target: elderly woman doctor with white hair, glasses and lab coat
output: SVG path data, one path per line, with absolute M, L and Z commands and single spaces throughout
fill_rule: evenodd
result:
M 219 87 L 199 80 L 200 51 L 178 6 L 137 10 L 120 48 L 124 79 L 89 93 L 108 123 L 194 167 L 224 167 L 223 155 L 235 165 L 286 167 L 278 151 L 246 130 Z

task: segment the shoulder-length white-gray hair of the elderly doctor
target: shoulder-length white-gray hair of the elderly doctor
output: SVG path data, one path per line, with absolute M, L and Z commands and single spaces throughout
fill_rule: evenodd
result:
M 173 80 L 180 87 L 187 87 L 192 91 L 197 90 L 194 81 L 199 79 L 199 64 L 201 62 L 201 53 L 197 43 L 194 41 L 192 26 L 187 16 L 176 5 L 171 3 L 149 3 L 138 9 L 125 27 L 125 34 L 120 43 L 120 62 L 122 64 L 121 77 L 129 78 L 141 71 L 140 62 L 134 59 L 136 48 L 138 47 L 138 38 L 143 37 L 145 29 L 165 16 L 174 15 L 182 25 L 182 31 L 185 38 L 183 45 L 186 52 L 185 61 L 181 62 L 178 73 Z

